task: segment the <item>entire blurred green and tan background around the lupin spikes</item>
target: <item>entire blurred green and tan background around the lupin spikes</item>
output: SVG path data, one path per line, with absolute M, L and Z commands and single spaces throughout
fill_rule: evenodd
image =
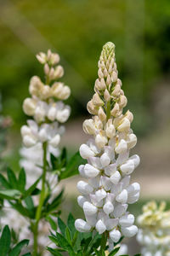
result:
M 4 115 L 13 125 L 5 157 L 19 168 L 22 102 L 32 75 L 42 76 L 35 54 L 52 49 L 61 56 L 64 81 L 71 86 L 71 119 L 62 144 L 73 154 L 87 137 L 82 121 L 93 95 L 103 44 L 116 44 L 119 78 L 134 114 L 139 138 L 133 150 L 141 164 L 133 179 L 143 201 L 167 200 L 170 194 L 170 2 L 169 0 L 0 0 L 0 91 Z M 79 214 L 76 181 L 66 181 L 64 209 Z M 69 191 L 69 193 L 67 192 Z M 69 200 L 68 200 L 69 198 Z M 75 210 L 76 209 L 76 210 Z M 82 212 L 80 213 L 82 214 Z

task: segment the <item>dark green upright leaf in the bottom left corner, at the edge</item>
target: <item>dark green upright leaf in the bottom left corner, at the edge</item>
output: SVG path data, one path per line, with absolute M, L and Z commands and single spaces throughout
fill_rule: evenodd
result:
M 10 248 L 11 235 L 8 225 L 3 229 L 3 233 L 0 239 L 0 253 L 1 256 L 7 256 Z

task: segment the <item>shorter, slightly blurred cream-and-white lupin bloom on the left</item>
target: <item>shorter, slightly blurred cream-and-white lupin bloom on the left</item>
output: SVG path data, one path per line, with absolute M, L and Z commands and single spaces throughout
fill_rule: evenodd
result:
M 71 113 L 70 106 L 65 105 L 62 100 L 70 96 L 71 90 L 67 85 L 54 81 L 64 74 L 63 67 L 57 65 L 58 54 L 48 50 L 47 54 L 37 55 L 37 60 L 44 65 L 46 81 L 43 84 L 39 77 L 31 78 L 29 86 L 31 97 L 26 98 L 23 109 L 35 121 L 29 120 L 28 125 L 22 126 L 21 135 L 24 145 L 28 148 L 38 142 L 48 142 L 56 148 L 64 130 L 64 127 L 59 127 L 58 123 L 65 123 Z

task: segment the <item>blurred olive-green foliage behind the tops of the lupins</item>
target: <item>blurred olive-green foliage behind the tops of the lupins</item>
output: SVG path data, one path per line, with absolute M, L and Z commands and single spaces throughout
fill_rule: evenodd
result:
M 87 114 L 102 45 L 116 44 L 116 61 L 134 130 L 154 123 L 150 96 L 170 68 L 169 0 L 0 0 L 0 90 L 14 127 L 26 118 L 21 104 L 32 75 L 41 75 L 34 54 L 55 49 L 71 86 L 72 118 Z

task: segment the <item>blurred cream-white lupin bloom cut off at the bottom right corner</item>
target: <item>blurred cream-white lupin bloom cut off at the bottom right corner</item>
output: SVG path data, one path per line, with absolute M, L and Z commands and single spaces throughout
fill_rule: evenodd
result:
M 165 202 L 158 207 L 155 201 L 143 207 L 137 236 L 143 256 L 170 256 L 170 211 L 165 208 Z

